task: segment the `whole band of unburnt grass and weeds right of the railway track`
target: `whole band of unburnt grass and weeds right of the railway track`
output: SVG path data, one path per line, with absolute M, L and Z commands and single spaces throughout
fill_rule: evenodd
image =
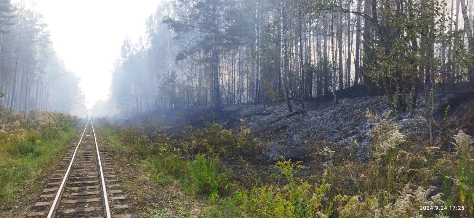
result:
M 103 132 L 113 139 L 111 147 L 125 154 L 128 161 L 138 159 L 156 184 L 179 180 L 184 191 L 206 198 L 209 204 L 200 214 L 203 217 L 472 217 L 472 138 L 460 131 L 454 137 L 456 152 L 450 152 L 446 151 L 450 145 L 441 140 L 428 142 L 404 135 L 388 117 L 379 119 L 367 111 L 367 118 L 375 125 L 368 133 L 372 145 L 366 162 L 352 155 L 356 141 L 344 149 L 314 144 L 309 145 L 313 146 L 310 155 L 315 163 L 311 169 L 282 157 L 271 164 L 273 170 L 263 172 L 273 178 L 264 182 L 255 172 L 230 180 L 230 171 L 221 163 L 221 159 L 251 163 L 254 158 L 246 156 L 249 151 L 260 151 L 257 140 L 243 126 L 240 136 L 234 136 L 218 124 L 210 124 L 179 142 L 165 135 L 150 140 L 146 137 L 149 131 L 139 130 L 138 125 L 109 125 Z M 310 175 L 299 177 L 300 170 Z M 247 176 L 255 179 L 247 180 Z M 419 209 L 426 205 L 462 205 L 465 210 Z M 164 212 L 156 211 L 159 216 Z

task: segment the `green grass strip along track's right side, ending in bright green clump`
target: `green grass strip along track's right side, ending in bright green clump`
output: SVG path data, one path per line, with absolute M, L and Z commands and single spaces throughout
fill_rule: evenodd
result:
M 101 125 L 98 128 L 116 157 L 127 163 L 137 160 L 157 185 L 180 181 L 186 191 L 199 198 L 206 198 L 212 191 L 220 196 L 229 192 L 228 175 L 215 156 L 197 154 L 193 159 L 185 158 L 182 151 L 174 147 L 176 141 L 164 135 L 151 141 L 139 137 L 145 133 L 134 127 Z

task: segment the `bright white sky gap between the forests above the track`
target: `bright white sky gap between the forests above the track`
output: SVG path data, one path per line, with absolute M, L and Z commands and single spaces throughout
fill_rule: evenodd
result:
M 13 3 L 22 0 L 12 0 Z M 87 108 L 109 95 L 113 63 L 128 36 L 145 33 L 160 0 L 27 0 L 43 14 L 56 53 L 81 78 Z M 33 3 L 33 4 L 35 4 Z M 28 4 L 29 5 L 29 4 Z

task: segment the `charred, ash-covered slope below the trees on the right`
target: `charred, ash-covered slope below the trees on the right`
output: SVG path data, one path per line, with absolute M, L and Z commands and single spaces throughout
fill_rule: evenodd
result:
M 429 91 L 419 91 L 417 107 L 408 118 L 408 112 L 400 114 L 398 122 L 401 131 L 408 131 L 410 125 L 419 129 L 419 135 L 428 138 L 429 114 L 426 99 Z M 283 155 L 292 159 L 305 159 L 315 146 L 328 145 L 346 147 L 357 141 L 356 150 L 363 158 L 370 140 L 367 132 L 374 126 L 368 120 L 366 110 L 383 118 L 390 108 L 384 96 L 343 98 L 339 103 L 332 101 L 307 102 L 304 112 L 289 114 L 284 102 L 258 105 L 223 106 L 215 115 L 217 123 L 235 133 L 240 131 L 239 120 L 258 138 L 271 142 L 268 158 Z M 429 104 L 430 105 L 430 104 Z M 447 110 L 447 120 L 445 112 Z M 434 136 L 451 137 L 462 128 L 466 134 L 474 135 L 474 97 L 469 89 L 442 87 L 435 95 L 433 109 Z M 296 105 L 301 107 L 301 105 Z M 179 138 L 192 128 L 204 127 L 212 122 L 213 112 L 208 107 L 183 109 L 156 109 L 136 118 L 147 125 Z M 337 144 L 337 145 L 336 145 Z

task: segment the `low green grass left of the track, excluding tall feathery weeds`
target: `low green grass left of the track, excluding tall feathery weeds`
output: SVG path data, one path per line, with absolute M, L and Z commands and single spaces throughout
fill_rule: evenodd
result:
M 63 127 L 54 136 L 27 140 L 18 146 L 19 152 L 0 152 L 0 202 L 2 207 L 16 202 L 14 194 L 29 182 L 34 181 L 41 169 L 55 161 L 69 141 L 77 134 L 73 126 Z

